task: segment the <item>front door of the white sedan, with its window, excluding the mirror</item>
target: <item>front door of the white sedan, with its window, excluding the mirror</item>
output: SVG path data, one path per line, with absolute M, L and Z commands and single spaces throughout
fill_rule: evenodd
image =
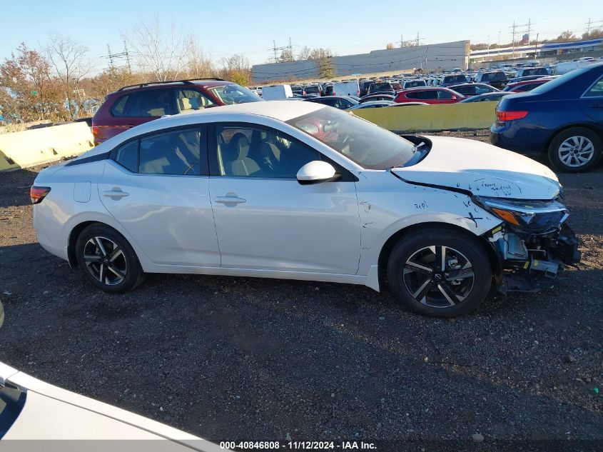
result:
M 216 124 L 210 194 L 223 267 L 355 274 L 360 219 L 354 176 L 301 185 L 327 160 L 301 141 L 251 124 Z

